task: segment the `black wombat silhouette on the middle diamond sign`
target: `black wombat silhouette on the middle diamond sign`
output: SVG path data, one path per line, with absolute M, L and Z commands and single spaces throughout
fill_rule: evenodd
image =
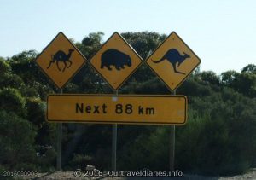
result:
M 101 68 L 107 67 L 109 71 L 113 65 L 117 70 L 124 69 L 125 65 L 131 67 L 131 57 L 125 53 L 120 52 L 118 49 L 108 49 L 102 53 Z

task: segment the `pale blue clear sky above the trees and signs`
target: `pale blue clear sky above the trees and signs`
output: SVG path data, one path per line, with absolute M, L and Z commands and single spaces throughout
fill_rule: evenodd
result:
M 254 0 L 0 0 L 0 56 L 40 53 L 58 32 L 81 41 L 90 32 L 172 31 L 201 59 L 201 71 L 256 64 Z

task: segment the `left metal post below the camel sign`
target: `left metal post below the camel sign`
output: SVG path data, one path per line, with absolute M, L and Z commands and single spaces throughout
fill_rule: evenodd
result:
M 63 90 L 61 89 L 61 94 Z M 62 123 L 57 124 L 57 171 L 61 171 L 61 159 L 62 159 Z

